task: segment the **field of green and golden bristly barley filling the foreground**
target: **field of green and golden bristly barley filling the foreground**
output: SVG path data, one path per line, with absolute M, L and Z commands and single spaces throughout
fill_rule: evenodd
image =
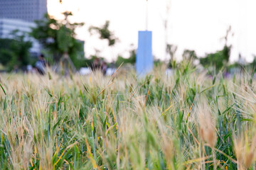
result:
M 252 72 L 1 74 L 0 169 L 255 169 Z

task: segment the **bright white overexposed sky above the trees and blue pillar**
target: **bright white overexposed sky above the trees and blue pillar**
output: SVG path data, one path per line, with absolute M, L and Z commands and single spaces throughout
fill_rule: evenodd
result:
M 177 58 L 184 49 L 196 50 L 198 56 L 222 49 L 225 41 L 221 38 L 232 26 L 231 62 L 238 59 L 239 52 L 252 61 L 252 55 L 256 55 L 255 6 L 255 0 L 149 0 L 148 30 L 153 31 L 153 55 L 166 59 L 164 18 L 168 18 L 167 40 L 178 46 Z M 85 23 L 77 33 L 79 39 L 85 40 L 86 57 L 94 55 L 95 49 L 102 51 L 100 56 L 108 61 L 118 54 L 129 57 L 128 51 L 137 48 L 138 30 L 146 28 L 146 0 L 63 0 L 63 4 L 48 0 L 50 15 L 60 18 L 63 11 L 73 11 L 73 21 Z M 119 38 L 114 47 L 107 47 L 107 41 L 87 31 L 107 20 Z

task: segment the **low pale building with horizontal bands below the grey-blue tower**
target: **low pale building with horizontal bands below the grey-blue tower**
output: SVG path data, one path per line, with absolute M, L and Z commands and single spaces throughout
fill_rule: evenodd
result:
M 36 24 L 28 21 L 22 21 L 17 19 L 6 19 L 0 18 L 0 38 L 12 38 L 11 32 L 14 30 L 19 30 L 19 33 L 28 33 L 31 31 L 31 28 L 35 27 Z M 29 38 L 26 36 L 26 40 L 30 40 L 32 42 L 31 54 L 38 55 L 41 50 L 41 45 L 39 45 L 38 41 Z

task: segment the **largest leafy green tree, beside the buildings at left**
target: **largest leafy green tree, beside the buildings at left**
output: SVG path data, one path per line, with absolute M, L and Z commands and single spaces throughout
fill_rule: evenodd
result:
M 31 36 L 53 55 L 55 62 L 59 62 L 60 57 L 68 52 L 75 67 L 79 67 L 79 60 L 83 59 L 84 52 L 82 42 L 75 39 L 75 28 L 83 26 L 84 23 L 70 23 L 68 18 L 73 15 L 70 12 L 65 12 L 63 15 L 65 19 L 60 21 L 48 14 L 42 20 L 35 21 L 36 28 L 32 28 Z

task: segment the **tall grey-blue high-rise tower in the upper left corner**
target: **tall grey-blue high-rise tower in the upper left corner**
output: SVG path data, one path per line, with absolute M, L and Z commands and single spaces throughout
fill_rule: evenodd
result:
M 47 0 L 0 0 L 0 18 L 33 22 L 47 13 Z

